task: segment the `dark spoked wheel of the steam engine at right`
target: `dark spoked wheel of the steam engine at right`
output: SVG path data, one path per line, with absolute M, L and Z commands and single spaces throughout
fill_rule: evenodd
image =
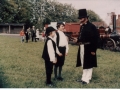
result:
M 112 38 L 108 38 L 104 42 L 104 49 L 107 50 L 115 50 L 116 48 L 116 43 Z

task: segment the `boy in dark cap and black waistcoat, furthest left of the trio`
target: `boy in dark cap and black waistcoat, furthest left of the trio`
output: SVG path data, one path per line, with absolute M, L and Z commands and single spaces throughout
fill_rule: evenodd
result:
M 51 82 L 51 74 L 53 71 L 53 64 L 57 62 L 57 54 L 61 56 L 62 54 L 58 51 L 53 38 L 55 36 L 55 29 L 53 27 L 48 27 L 46 29 L 47 40 L 44 45 L 42 58 L 45 60 L 45 69 L 46 69 L 46 85 L 53 86 Z

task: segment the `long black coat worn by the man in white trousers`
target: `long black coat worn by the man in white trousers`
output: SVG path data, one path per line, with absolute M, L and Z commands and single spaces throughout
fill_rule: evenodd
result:
M 97 67 L 96 54 L 92 55 L 91 52 L 96 53 L 99 36 L 100 35 L 99 35 L 99 32 L 96 29 L 96 27 L 92 23 L 90 23 L 89 21 L 86 24 L 81 26 L 80 34 L 78 36 L 77 42 L 82 42 L 82 43 L 89 42 L 90 43 L 90 44 L 84 45 L 83 69 Z M 76 67 L 79 67 L 79 66 L 81 66 L 80 46 L 79 46 L 78 54 L 77 54 Z

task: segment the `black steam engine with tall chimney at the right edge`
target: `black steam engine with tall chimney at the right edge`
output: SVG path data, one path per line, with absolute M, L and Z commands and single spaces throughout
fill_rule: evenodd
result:
M 120 51 L 120 33 L 116 30 L 116 15 L 113 15 L 113 29 L 106 31 L 105 27 L 99 27 L 100 45 L 102 49 Z

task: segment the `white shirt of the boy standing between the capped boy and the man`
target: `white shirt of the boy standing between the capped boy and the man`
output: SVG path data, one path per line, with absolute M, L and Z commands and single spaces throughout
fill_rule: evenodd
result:
M 66 35 L 60 30 L 58 30 L 57 32 L 59 33 L 59 36 L 60 36 L 59 37 L 59 46 L 61 46 L 61 47 L 65 46 L 66 47 L 66 53 L 68 53 L 69 46 L 68 46 L 68 41 L 67 41 Z M 57 35 L 55 34 L 55 37 L 54 37 L 55 43 L 56 43 L 56 38 L 57 38 Z

